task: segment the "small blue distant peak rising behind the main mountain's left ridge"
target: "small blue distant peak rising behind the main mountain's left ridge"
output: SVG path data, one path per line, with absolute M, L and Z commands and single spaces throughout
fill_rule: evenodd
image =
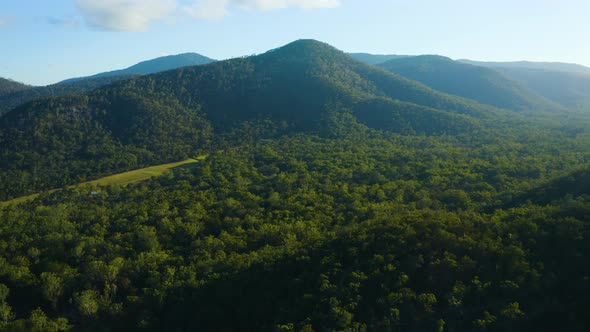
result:
M 143 61 L 125 69 L 113 70 L 87 77 L 71 78 L 61 81 L 60 83 L 71 83 L 89 78 L 100 78 L 107 76 L 148 75 L 181 67 L 204 65 L 214 61 L 216 60 L 198 53 L 182 53 Z

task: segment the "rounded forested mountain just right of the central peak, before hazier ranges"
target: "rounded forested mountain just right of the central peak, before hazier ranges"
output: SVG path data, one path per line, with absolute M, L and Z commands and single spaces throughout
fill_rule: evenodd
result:
M 438 55 L 389 60 L 379 67 L 433 89 L 511 110 L 549 110 L 560 106 L 496 70 Z

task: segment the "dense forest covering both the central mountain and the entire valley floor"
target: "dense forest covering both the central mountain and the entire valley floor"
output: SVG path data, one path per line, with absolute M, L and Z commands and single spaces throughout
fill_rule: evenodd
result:
M 588 330 L 590 110 L 428 85 L 298 41 L 15 108 L 0 331 Z

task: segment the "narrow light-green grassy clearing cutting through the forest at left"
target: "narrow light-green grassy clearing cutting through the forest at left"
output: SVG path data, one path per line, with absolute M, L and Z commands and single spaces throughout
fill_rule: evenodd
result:
M 136 170 L 129 171 L 129 172 L 105 176 L 104 178 L 100 178 L 97 180 L 82 182 L 82 183 L 79 183 L 77 185 L 70 186 L 70 187 L 81 187 L 81 186 L 95 187 L 95 186 L 107 186 L 107 185 L 122 185 L 122 186 L 124 186 L 124 185 L 128 185 L 131 183 L 145 181 L 145 180 L 152 178 L 154 176 L 164 175 L 164 174 L 170 172 L 174 168 L 180 168 L 180 167 L 192 168 L 192 167 L 196 166 L 196 164 L 199 161 L 201 161 L 205 158 L 206 158 L 206 156 L 199 156 L 194 159 L 191 158 L 191 159 L 179 161 L 176 163 L 169 163 L 169 164 L 163 164 L 163 165 L 157 165 L 157 166 L 136 169 Z M 49 192 L 51 193 L 56 190 L 59 190 L 59 189 L 50 190 Z M 10 205 L 10 204 L 19 204 L 19 203 L 27 202 L 27 201 L 35 199 L 37 196 L 39 196 L 39 194 L 22 196 L 22 197 L 11 199 L 9 201 L 0 202 L 0 207 Z

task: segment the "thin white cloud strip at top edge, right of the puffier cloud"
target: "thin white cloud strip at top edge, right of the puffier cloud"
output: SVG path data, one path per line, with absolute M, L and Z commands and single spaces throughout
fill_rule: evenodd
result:
M 246 9 L 273 10 L 285 8 L 336 8 L 340 0 L 197 0 L 185 11 L 199 19 L 222 19 L 229 14 L 229 7 L 238 6 Z

